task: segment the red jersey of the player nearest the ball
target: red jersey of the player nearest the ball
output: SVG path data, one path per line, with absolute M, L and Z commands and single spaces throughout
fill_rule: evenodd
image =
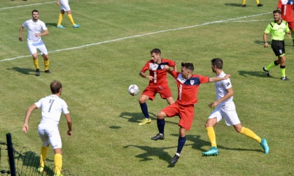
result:
M 165 65 L 174 67 L 176 62 L 169 59 L 162 59 L 160 64 L 156 64 L 152 59 L 147 61 L 145 66 L 141 69 L 141 72 L 145 73 L 147 70 L 149 70 L 149 75 L 154 78 L 153 80 L 149 81 L 149 85 L 168 84 L 167 70 L 165 70 Z

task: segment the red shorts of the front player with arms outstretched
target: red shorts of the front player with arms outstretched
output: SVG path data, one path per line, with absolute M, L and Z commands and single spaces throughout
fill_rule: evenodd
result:
M 167 106 L 162 110 L 167 114 L 167 117 L 179 115 L 179 126 L 186 130 L 190 130 L 194 118 L 194 105 L 179 105 L 177 102 Z

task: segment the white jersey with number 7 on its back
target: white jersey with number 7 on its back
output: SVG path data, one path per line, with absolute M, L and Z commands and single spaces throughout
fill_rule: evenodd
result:
M 42 108 L 42 118 L 39 126 L 58 126 L 61 113 L 69 113 L 67 104 L 62 98 L 56 95 L 46 96 L 35 103 L 38 108 Z

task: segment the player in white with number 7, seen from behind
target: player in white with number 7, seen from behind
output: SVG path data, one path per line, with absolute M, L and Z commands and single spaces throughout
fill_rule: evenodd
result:
M 51 145 L 55 152 L 55 176 L 59 176 L 62 173 L 62 140 L 58 130 L 61 113 L 63 112 L 66 118 L 69 128 L 67 135 L 69 136 L 72 135 L 72 123 L 66 102 L 62 100 L 62 98 L 59 98 L 62 94 L 62 84 L 55 80 L 50 84 L 50 89 L 52 95 L 41 98 L 27 109 L 22 131 L 25 131 L 25 133 L 29 131 L 29 117 L 31 112 L 37 108 L 42 108 L 42 117 L 38 125 L 38 134 L 43 142 L 43 147 L 41 148 L 40 168 L 38 168 L 38 172 L 43 173 L 48 147 Z

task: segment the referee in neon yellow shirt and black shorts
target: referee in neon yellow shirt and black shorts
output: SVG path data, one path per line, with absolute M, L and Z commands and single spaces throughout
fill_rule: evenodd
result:
M 265 32 L 263 34 L 263 41 L 265 42 L 264 47 L 269 47 L 267 43 L 267 34 L 272 34 L 272 50 L 274 54 L 278 57 L 277 60 L 272 61 L 267 66 L 263 67 L 263 71 L 267 76 L 269 75 L 269 69 L 274 66 L 280 65 L 281 68 L 281 80 L 288 80 L 286 77 L 286 56 L 285 56 L 285 33 L 290 38 L 290 29 L 288 27 L 288 22 L 282 20 L 281 18 L 281 10 L 274 10 L 274 22 L 271 22 L 267 25 Z

